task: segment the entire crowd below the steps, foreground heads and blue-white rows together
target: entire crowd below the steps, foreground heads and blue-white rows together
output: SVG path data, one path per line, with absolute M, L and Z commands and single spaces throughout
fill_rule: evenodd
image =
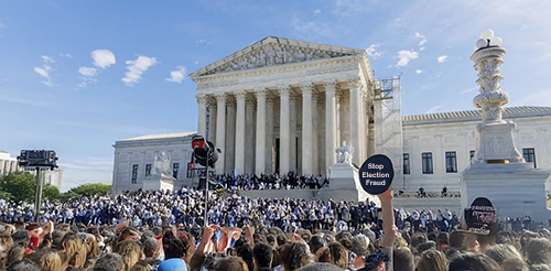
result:
M 134 192 L 29 205 L 0 200 L 0 270 L 551 270 L 551 232 L 458 230 L 455 214 L 305 199 Z M 206 226 L 205 226 L 206 225 Z

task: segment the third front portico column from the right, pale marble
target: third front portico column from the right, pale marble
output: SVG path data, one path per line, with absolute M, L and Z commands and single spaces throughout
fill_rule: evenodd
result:
M 302 84 L 302 174 L 312 175 L 312 84 Z

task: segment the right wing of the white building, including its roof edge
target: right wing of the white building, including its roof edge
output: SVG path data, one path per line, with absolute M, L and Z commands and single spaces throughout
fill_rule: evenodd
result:
M 515 144 L 522 154 L 533 150 L 536 167 L 551 169 L 551 108 L 510 107 L 505 109 L 505 120 L 517 123 Z M 403 153 L 409 154 L 410 173 L 395 188 L 415 193 L 423 187 L 429 193 L 440 193 L 445 185 L 457 193 L 461 173 L 476 159 L 478 142 L 476 124 L 480 122 L 478 110 L 406 116 L 403 119 Z M 455 153 L 455 171 L 446 166 Z M 423 153 L 432 156 L 432 173 L 423 173 Z M 474 155 L 474 156 L 473 156 Z M 474 161 L 473 161 L 474 162 Z M 452 164 L 453 165 L 453 164 Z M 453 167 L 453 166 L 452 166 Z

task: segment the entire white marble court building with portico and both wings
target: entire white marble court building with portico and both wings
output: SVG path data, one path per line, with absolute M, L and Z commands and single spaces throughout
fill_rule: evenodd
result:
M 190 76 L 197 132 L 117 141 L 114 193 L 142 188 L 160 153 L 171 159 L 174 188 L 196 184 L 185 172 L 195 134 L 220 149 L 219 174 L 325 176 L 345 141 L 358 166 L 375 153 L 390 156 L 395 187 L 407 193 L 457 192 L 474 155 L 477 110 L 401 116 L 399 78 L 375 78 L 365 50 L 269 36 Z M 548 167 L 551 108 L 508 108 L 508 118 L 525 159 Z

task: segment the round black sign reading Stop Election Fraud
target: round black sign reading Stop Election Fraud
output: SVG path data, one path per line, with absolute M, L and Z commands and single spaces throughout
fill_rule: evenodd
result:
M 375 154 L 366 160 L 359 169 L 361 187 L 371 194 L 382 194 L 392 184 L 395 167 L 387 155 Z

